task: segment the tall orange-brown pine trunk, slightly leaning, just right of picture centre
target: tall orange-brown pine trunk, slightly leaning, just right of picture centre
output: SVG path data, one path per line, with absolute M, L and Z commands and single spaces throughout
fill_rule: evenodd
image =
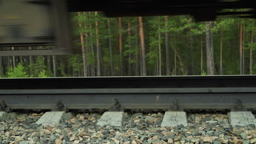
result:
M 143 21 L 141 16 L 139 16 L 138 19 L 139 19 L 139 35 L 141 37 L 142 76 L 146 76 L 147 69 L 146 69 L 146 53 L 145 53 L 145 44 L 144 44 Z

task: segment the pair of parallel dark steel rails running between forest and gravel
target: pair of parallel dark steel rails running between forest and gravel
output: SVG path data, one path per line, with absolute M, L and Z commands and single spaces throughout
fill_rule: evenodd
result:
M 256 109 L 256 76 L 0 79 L 9 109 Z

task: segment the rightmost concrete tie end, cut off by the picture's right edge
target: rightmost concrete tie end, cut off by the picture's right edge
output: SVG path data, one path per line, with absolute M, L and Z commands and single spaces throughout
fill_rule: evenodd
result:
M 228 113 L 228 117 L 229 123 L 232 125 L 232 127 L 235 127 L 236 125 L 256 125 L 256 119 L 251 111 L 231 111 Z

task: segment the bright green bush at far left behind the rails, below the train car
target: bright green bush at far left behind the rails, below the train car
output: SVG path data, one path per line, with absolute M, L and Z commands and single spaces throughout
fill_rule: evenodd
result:
M 8 77 L 9 78 L 28 77 L 28 75 L 26 74 L 25 67 L 22 65 L 22 63 L 19 63 L 16 68 L 9 67 Z

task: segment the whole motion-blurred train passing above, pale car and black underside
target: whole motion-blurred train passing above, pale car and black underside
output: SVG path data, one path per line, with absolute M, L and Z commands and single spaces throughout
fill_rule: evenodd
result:
M 0 0 L 0 46 L 54 46 L 47 50 L 0 51 L 0 56 L 69 55 L 72 45 L 69 12 L 103 11 L 108 17 L 192 15 L 196 21 L 214 21 L 218 15 L 255 19 L 254 0 Z M 240 9 L 226 11 L 225 9 Z

